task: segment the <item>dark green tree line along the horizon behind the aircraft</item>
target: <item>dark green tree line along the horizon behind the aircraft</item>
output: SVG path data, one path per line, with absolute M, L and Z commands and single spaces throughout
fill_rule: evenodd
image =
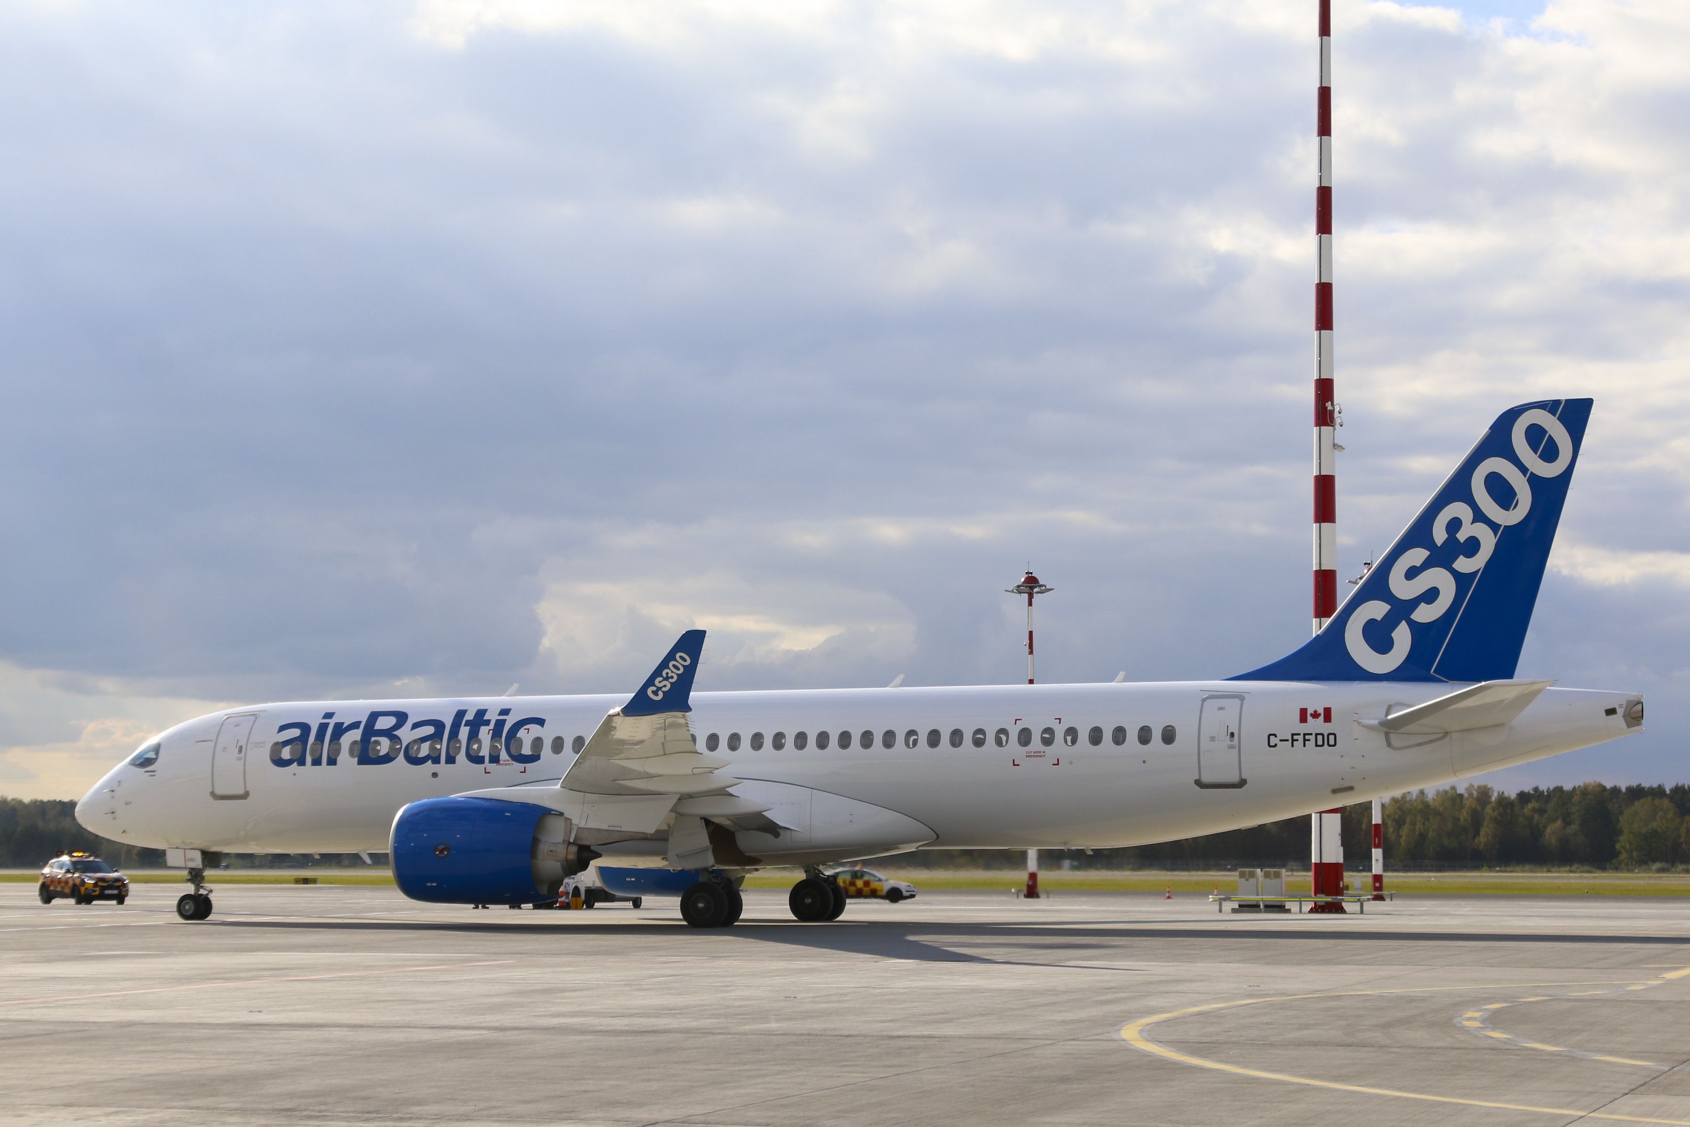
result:
M 0 865 L 42 865 L 59 850 L 90 850 L 118 867 L 162 867 L 161 850 L 122 845 L 76 823 L 69 799 L 0 796 Z M 1367 868 L 1371 804 L 1344 809 L 1350 868 Z M 1514 794 L 1486 784 L 1398 794 L 1384 804 L 1386 867 L 1477 868 L 1497 865 L 1656 868 L 1690 865 L 1690 786 L 1533 787 Z M 1077 868 L 1227 868 L 1308 862 L 1308 816 L 1203 838 L 1120 850 L 1051 850 L 1048 862 Z M 245 860 L 245 858 L 242 858 Z M 275 858 L 281 860 L 281 858 Z M 309 863 L 309 858 L 287 858 Z M 324 855 L 323 863 L 341 863 Z M 1019 852 L 931 850 L 906 853 L 899 867 L 1016 868 Z

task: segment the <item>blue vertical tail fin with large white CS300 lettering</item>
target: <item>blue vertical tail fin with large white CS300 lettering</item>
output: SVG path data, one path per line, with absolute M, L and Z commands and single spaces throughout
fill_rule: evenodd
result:
M 1301 649 L 1235 681 L 1514 676 L 1589 399 L 1509 407 Z

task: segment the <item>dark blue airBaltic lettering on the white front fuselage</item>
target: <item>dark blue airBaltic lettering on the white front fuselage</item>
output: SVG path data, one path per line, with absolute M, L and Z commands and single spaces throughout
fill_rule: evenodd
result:
M 345 749 L 350 759 L 367 767 L 401 759 L 414 767 L 455 764 L 460 755 L 472 764 L 504 759 L 537 764 L 542 754 L 539 730 L 544 727 L 541 716 L 510 720 L 509 708 L 500 708 L 495 716 L 488 716 L 485 708 L 473 713 L 460 708 L 451 720 L 411 720 L 411 713 L 397 708 L 377 708 L 362 720 L 336 720 L 326 711 L 314 725 L 309 720 L 281 725 L 270 743 L 270 762 L 277 767 L 335 767 Z

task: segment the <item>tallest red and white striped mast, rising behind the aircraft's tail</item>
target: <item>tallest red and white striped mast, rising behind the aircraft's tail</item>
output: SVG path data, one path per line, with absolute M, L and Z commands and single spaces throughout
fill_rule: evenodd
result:
M 1315 91 L 1315 634 L 1338 610 L 1338 404 L 1332 384 L 1332 0 L 1320 5 L 1320 88 Z M 1310 816 L 1310 890 L 1344 896 L 1344 808 Z M 1311 904 L 1315 912 L 1342 912 L 1344 901 Z

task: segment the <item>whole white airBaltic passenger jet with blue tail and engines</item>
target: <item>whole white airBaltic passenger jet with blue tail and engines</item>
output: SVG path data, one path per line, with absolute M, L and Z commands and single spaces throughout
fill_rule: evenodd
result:
M 204 919 L 220 852 L 389 852 L 406 896 L 537 904 L 595 860 L 696 928 L 803 867 L 919 848 L 1119 847 L 1252 826 L 1634 733 L 1643 698 L 1518 681 L 1589 399 L 1502 412 L 1293 654 L 1224 681 L 693 693 L 688 630 L 629 700 L 316 701 L 181 723 L 76 806 L 181 850 Z

